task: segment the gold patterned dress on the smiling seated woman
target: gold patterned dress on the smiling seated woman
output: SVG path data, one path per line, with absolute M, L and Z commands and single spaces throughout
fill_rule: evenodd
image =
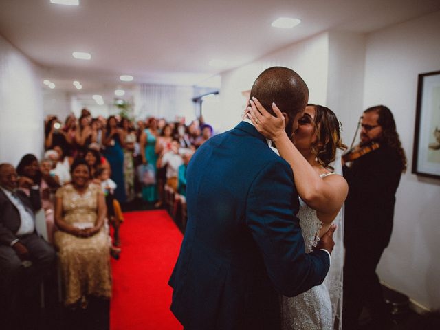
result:
M 72 184 L 59 188 L 56 197 L 61 197 L 63 219 L 74 226 L 92 227 L 98 217 L 98 195 L 100 186 L 90 184 L 83 194 Z M 82 301 L 87 296 L 111 298 L 110 241 L 104 228 L 94 236 L 80 238 L 58 230 L 54 243 L 59 250 L 63 281 L 65 285 L 65 305 Z

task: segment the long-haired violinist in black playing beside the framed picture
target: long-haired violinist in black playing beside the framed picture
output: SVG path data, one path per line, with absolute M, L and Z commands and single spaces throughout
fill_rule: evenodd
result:
M 406 157 L 388 107 L 366 109 L 360 126 L 360 145 L 343 157 L 344 177 L 349 184 L 343 329 L 358 329 L 364 306 L 369 309 L 371 329 L 387 329 L 391 317 L 376 267 L 391 238 L 395 193 L 406 170 Z

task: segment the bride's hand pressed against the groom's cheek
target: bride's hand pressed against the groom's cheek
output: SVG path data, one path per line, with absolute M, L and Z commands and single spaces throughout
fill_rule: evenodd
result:
M 272 103 L 272 110 L 276 117 L 270 114 L 256 98 L 252 98 L 249 102 L 251 107 L 248 107 L 248 118 L 261 134 L 270 140 L 276 140 L 285 134 L 285 117 L 275 103 Z

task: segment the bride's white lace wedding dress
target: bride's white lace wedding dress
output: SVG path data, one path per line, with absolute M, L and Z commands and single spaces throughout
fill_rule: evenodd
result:
M 316 210 L 309 208 L 301 199 L 298 218 L 305 241 L 305 250 L 307 253 L 312 252 L 318 244 L 318 233 L 322 228 L 322 223 L 316 215 Z M 337 231 L 343 232 L 340 219 L 343 219 L 342 212 L 338 214 L 334 222 L 338 225 Z M 343 243 L 339 239 L 338 241 L 335 239 L 335 242 L 331 268 L 324 283 L 296 297 L 281 297 L 283 330 L 331 330 L 335 325 L 335 318 L 338 319 L 336 329 L 341 329 Z

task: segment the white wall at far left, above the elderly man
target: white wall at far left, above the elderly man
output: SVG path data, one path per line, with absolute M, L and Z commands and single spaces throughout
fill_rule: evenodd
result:
M 0 36 L 0 162 L 17 166 L 25 153 L 43 153 L 38 68 Z

